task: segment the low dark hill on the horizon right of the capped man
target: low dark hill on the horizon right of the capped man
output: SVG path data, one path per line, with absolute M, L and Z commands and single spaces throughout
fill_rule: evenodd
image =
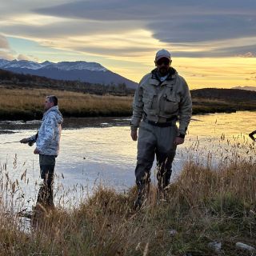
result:
M 190 90 L 192 98 L 215 98 L 226 101 L 256 101 L 256 91 L 204 88 Z

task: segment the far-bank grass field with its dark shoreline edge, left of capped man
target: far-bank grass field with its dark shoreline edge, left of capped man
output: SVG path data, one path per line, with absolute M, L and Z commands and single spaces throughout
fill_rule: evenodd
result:
M 66 116 L 98 116 L 131 114 L 132 97 L 98 96 L 63 90 L 1 88 L 0 118 L 40 118 L 44 98 L 55 94 L 59 108 Z

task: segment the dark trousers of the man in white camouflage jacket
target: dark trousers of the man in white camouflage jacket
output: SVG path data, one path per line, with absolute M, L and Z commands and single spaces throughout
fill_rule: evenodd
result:
M 40 175 L 43 180 L 38 192 L 38 203 L 54 206 L 54 167 L 55 155 L 39 154 Z

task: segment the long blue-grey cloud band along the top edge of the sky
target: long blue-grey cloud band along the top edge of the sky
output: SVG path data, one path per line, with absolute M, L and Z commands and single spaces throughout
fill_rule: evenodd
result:
M 202 2 L 202 0 L 87 0 L 69 2 L 61 5 L 37 8 L 38 14 L 47 14 L 68 18 L 84 18 L 96 21 L 120 20 L 172 20 L 174 17 L 183 19 L 201 14 L 251 14 L 254 15 L 256 3 L 254 0 L 215 0 Z

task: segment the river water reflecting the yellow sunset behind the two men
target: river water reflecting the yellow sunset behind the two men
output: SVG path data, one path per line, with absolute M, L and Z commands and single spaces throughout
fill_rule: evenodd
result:
M 68 202 L 71 205 L 78 202 L 78 194 L 81 198 L 90 194 L 99 182 L 116 190 L 127 190 L 134 185 L 137 143 L 130 138 L 129 121 L 129 118 L 65 119 L 55 168 L 58 203 L 66 206 Z M 34 203 L 40 182 L 38 155 L 33 154 L 34 146 L 15 141 L 35 134 L 38 126 L 39 121 L 0 122 L 1 173 L 18 181 L 22 191 L 19 197 L 28 205 Z M 178 146 L 173 177 L 188 159 L 218 166 L 234 161 L 237 154 L 254 158 L 254 144 L 248 137 L 253 130 L 256 130 L 256 112 L 195 115 L 186 142 Z M 154 181 L 154 168 L 152 178 Z

